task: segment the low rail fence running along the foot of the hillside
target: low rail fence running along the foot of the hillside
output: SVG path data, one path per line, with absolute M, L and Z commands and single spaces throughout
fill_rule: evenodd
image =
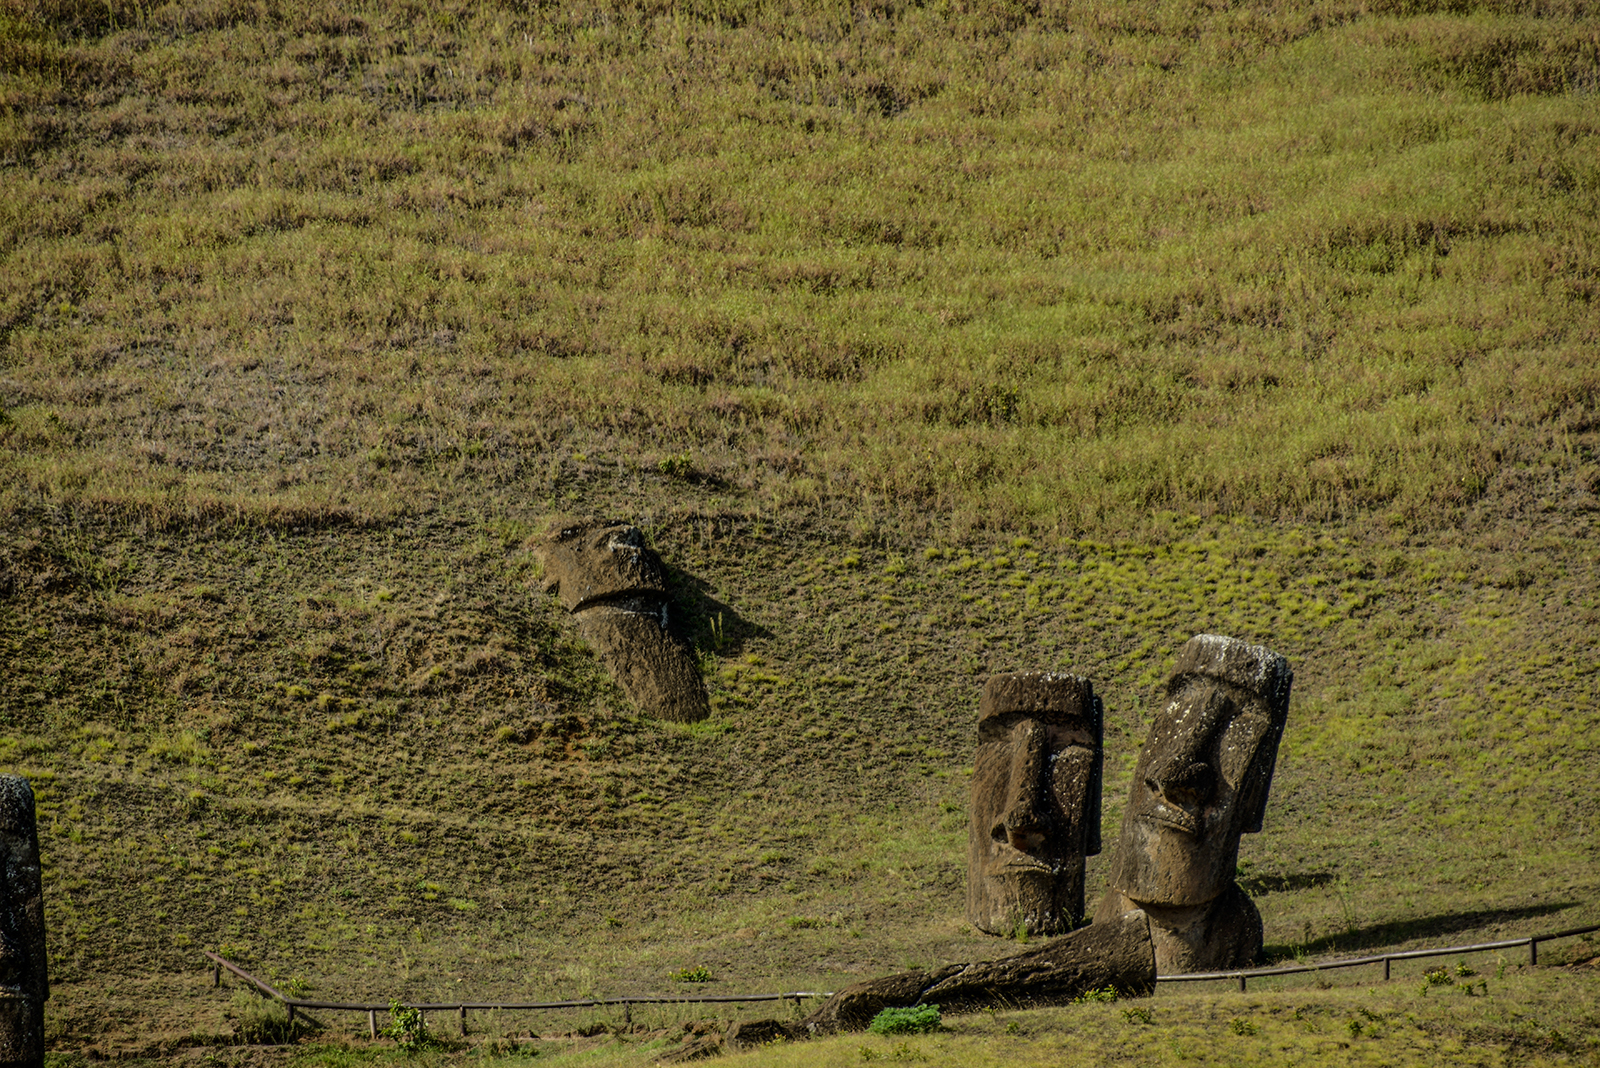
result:
M 1315 964 L 1285 964 L 1277 967 L 1253 967 L 1253 969 L 1235 969 L 1227 972 L 1187 972 L 1182 975 L 1157 975 L 1157 983 L 1203 983 L 1214 980 L 1235 980 L 1238 990 L 1243 991 L 1246 982 L 1251 978 L 1266 978 L 1269 975 L 1294 975 L 1302 972 L 1326 972 L 1342 967 L 1362 967 L 1365 964 L 1382 964 L 1384 978 L 1389 978 L 1389 966 L 1394 961 L 1414 961 L 1430 956 L 1456 956 L 1461 953 L 1483 953 L 1488 950 L 1512 950 L 1518 946 L 1528 946 L 1528 964 L 1539 962 L 1539 943 L 1555 942 L 1557 938 L 1573 938 L 1584 934 L 1592 934 L 1600 931 L 1600 924 L 1590 924 L 1587 927 L 1570 927 L 1566 931 L 1552 931 L 1549 934 L 1530 935 L 1526 938 L 1507 938 L 1504 942 L 1475 942 L 1470 945 L 1450 945 L 1437 950 L 1402 950 L 1397 953 L 1378 953 L 1373 956 L 1352 956 L 1338 961 L 1320 961 Z M 373 1038 L 378 1038 L 378 1014 L 389 1012 L 395 1004 L 402 1009 L 416 1009 L 418 1012 L 454 1012 L 456 1020 L 461 1026 L 461 1033 L 467 1033 L 467 1012 L 541 1012 L 554 1009 L 598 1009 L 606 1006 L 622 1006 L 624 1018 L 632 1023 L 634 1006 L 664 1006 L 664 1004 L 746 1004 L 758 1001 L 794 1001 L 795 1010 L 808 998 L 832 998 L 830 990 L 790 990 L 778 994 L 627 994 L 619 998 L 587 998 L 581 1001 L 389 1001 L 384 1004 L 374 1002 L 358 1002 L 358 1001 L 310 1001 L 306 998 L 290 998 L 270 983 L 262 982 L 256 975 L 251 975 L 240 966 L 222 958 L 218 953 L 203 950 L 205 956 L 213 964 L 211 985 L 219 986 L 222 983 L 222 972 L 227 970 L 238 978 L 250 983 L 258 994 L 262 998 L 272 998 L 283 1004 L 288 1012 L 290 1023 L 294 1022 L 296 1014 L 304 1014 L 306 1010 L 317 1009 L 326 1012 L 365 1012 L 366 1014 L 366 1030 Z M 426 1017 L 424 1017 L 426 1018 Z M 310 1017 L 307 1017 L 310 1020 Z

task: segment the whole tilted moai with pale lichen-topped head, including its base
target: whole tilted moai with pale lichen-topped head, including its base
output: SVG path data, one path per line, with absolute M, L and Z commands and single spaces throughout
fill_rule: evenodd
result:
M 1234 873 L 1238 836 L 1261 830 L 1293 681 L 1288 660 L 1237 638 L 1200 635 L 1178 652 L 1094 913 L 1149 913 L 1162 975 L 1261 954 L 1261 913 Z

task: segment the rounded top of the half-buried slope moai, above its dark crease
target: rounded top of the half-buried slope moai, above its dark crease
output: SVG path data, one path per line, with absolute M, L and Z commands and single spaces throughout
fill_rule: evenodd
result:
M 544 592 L 578 612 L 606 598 L 666 600 L 667 576 L 661 556 L 637 526 L 618 520 L 586 520 L 552 534 L 544 547 Z

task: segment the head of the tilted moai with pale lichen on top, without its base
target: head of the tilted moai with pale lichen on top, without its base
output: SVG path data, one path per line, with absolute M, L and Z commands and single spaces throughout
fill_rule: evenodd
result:
M 1238 836 L 1261 830 L 1290 708 L 1288 660 L 1200 635 L 1133 772 L 1110 884 L 1150 905 L 1203 905 L 1234 886 Z

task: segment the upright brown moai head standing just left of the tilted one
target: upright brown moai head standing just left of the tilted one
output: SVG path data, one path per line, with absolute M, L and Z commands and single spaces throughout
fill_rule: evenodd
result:
M 989 934 L 1083 923 L 1083 859 L 1101 851 L 1102 707 L 1086 678 L 994 675 L 978 702 L 966 919 Z

